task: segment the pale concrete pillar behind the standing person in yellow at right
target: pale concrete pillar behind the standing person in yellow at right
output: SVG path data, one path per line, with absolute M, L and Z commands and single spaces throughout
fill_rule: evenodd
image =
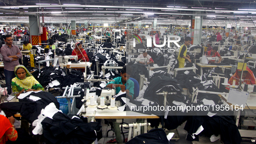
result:
M 192 16 L 191 21 L 191 38 L 193 45 L 201 45 L 202 38 L 202 25 L 203 25 L 203 12 L 194 12 L 196 15 Z

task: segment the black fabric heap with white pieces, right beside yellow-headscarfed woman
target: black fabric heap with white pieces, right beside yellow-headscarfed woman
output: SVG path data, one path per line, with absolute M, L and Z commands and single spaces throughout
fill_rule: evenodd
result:
M 60 89 L 67 74 L 66 70 L 59 67 L 43 67 L 40 73 L 36 70 L 32 75 L 45 88 Z

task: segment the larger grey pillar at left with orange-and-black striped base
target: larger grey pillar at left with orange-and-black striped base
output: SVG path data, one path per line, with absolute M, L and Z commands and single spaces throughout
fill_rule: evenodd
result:
M 29 8 L 29 12 L 36 12 L 37 8 Z M 39 34 L 39 16 L 29 16 L 29 31 L 31 45 L 41 43 L 41 34 Z

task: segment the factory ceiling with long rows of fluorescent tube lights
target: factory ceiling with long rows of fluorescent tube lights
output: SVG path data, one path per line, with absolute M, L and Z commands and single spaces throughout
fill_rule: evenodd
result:
M 33 9 L 33 10 L 31 10 Z M 29 22 L 44 16 L 45 23 L 108 23 L 189 25 L 203 16 L 203 26 L 256 27 L 254 0 L 1 0 L 0 22 Z

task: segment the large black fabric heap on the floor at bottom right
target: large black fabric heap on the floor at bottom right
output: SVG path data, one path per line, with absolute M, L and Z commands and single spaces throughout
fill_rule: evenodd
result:
M 200 127 L 203 130 L 198 135 L 194 134 Z M 230 116 L 190 116 L 184 129 L 188 131 L 188 141 L 199 141 L 199 135 L 203 134 L 206 137 L 220 134 L 220 140 L 224 144 L 240 144 L 242 141 L 237 125 Z

